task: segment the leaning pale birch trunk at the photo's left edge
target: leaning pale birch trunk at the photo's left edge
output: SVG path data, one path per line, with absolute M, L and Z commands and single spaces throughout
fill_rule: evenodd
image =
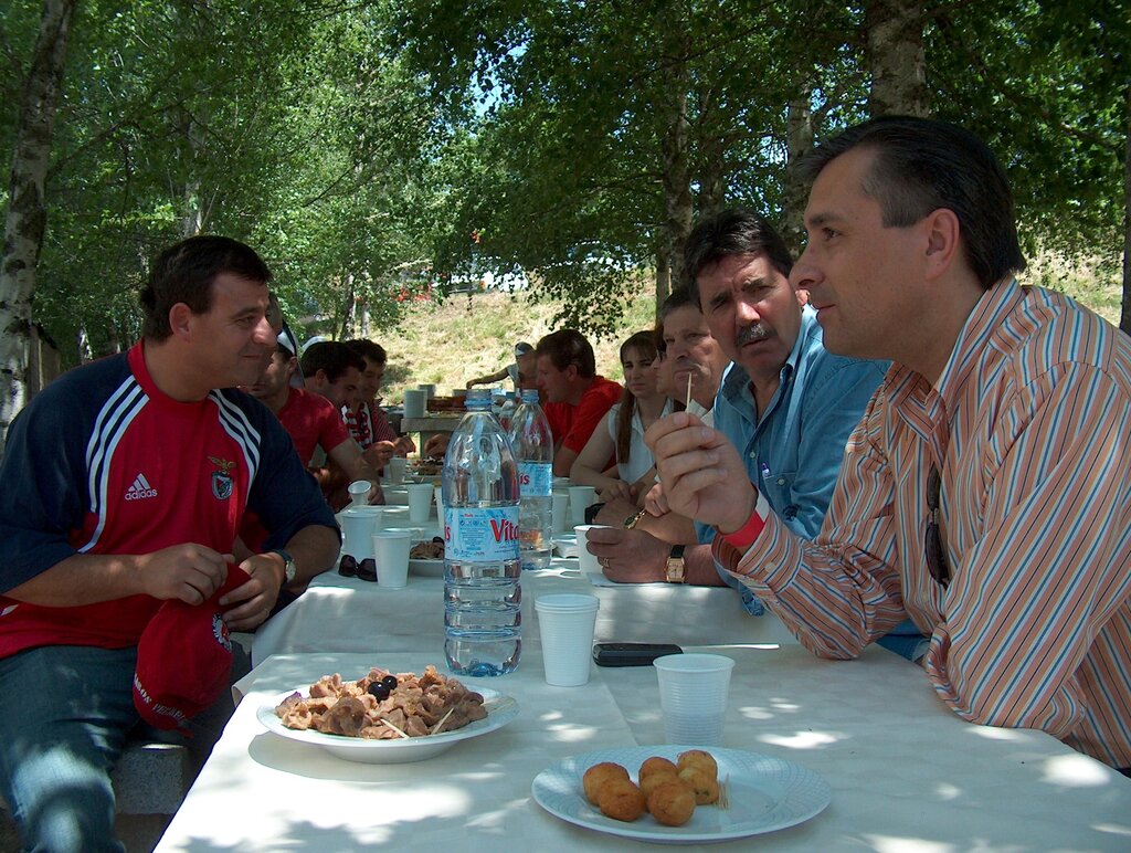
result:
M 46 226 L 44 183 L 75 0 L 45 0 L 19 105 L 0 258 L 0 450 L 27 402 L 32 295 Z

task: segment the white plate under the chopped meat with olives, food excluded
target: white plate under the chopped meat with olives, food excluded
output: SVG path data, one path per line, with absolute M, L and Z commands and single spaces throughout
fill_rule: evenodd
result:
M 299 692 L 305 695 L 305 688 Z M 291 696 L 294 691 L 280 695 L 275 701 L 261 705 L 256 716 L 266 729 L 287 740 L 300 743 L 312 743 L 321 747 L 330 755 L 344 758 L 347 761 L 360 761 L 362 764 L 407 764 L 409 761 L 423 761 L 426 758 L 451 749 L 459 741 L 468 738 L 477 738 L 481 734 L 501 729 L 518 716 L 518 703 L 509 696 L 500 693 L 490 688 L 478 688 L 475 692 L 483 697 L 483 705 L 487 709 L 487 715 L 483 720 L 465 725 L 454 732 L 440 732 L 440 734 L 428 734 L 423 738 L 397 738 L 396 740 L 374 741 L 363 738 L 346 738 L 340 734 L 323 734 L 314 731 L 299 731 L 287 729 L 277 716 L 275 708 Z

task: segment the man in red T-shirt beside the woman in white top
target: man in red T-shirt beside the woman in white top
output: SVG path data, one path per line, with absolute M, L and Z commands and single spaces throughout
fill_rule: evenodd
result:
M 576 329 L 560 329 L 538 342 L 538 388 L 554 432 L 554 476 L 569 476 L 601 419 L 619 402 L 623 388 L 597 376 L 593 346 Z

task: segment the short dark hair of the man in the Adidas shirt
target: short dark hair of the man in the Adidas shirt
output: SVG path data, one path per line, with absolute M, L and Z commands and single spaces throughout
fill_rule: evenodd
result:
M 169 312 L 179 302 L 195 315 L 207 313 L 211 309 L 211 283 L 221 273 L 264 284 L 271 279 L 270 270 L 253 249 L 226 236 L 190 236 L 158 255 L 139 296 L 141 335 L 147 341 L 164 341 L 172 335 Z

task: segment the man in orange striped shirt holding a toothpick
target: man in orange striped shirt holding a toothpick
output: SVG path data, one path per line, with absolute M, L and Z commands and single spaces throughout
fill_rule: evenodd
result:
M 1021 287 L 1012 199 L 970 133 L 889 117 L 806 161 L 792 279 L 832 352 L 895 363 L 820 534 L 772 514 L 725 437 L 649 430 L 671 506 L 801 641 L 857 655 L 910 617 L 966 720 L 1131 767 L 1131 339 Z

